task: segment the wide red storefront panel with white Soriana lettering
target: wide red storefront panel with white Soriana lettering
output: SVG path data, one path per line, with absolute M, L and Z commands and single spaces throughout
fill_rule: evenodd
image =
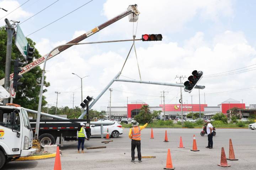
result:
M 164 107 L 163 104 L 159 105 L 160 107 Z M 200 106 L 201 106 L 201 111 L 204 111 L 204 107 L 207 107 L 207 104 L 182 104 L 183 111 L 184 112 L 199 112 L 200 111 Z M 181 104 L 165 104 L 165 111 L 166 112 L 175 112 L 181 111 Z

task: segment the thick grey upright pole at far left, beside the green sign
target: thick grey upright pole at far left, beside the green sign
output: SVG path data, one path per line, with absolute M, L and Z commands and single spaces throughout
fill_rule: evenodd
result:
M 10 88 L 10 72 L 11 72 L 11 51 L 12 51 L 12 35 L 15 32 L 14 25 L 11 25 L 9 20 L 5 18 L 6 32 L 7 32 L 7 42 L 6 42 L 6 60 L 5 60 L 5 81 L 4 88 L 9 91 Z M 3 106 L 8 103 L 9 99 L 3 101 Z

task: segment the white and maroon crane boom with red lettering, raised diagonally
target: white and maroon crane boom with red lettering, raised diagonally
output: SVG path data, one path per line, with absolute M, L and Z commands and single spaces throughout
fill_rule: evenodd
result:
M 138 11 L 137 9 L 137 5 L 133 5 L 131 8 L 128 8 L 128 10 L 126 10 L 125 12 L 119 14 L 118 16 L 108 20 L 107 22 L 101 24 L 100 26 L 98 27 L 95 27 L 94 29 L 88 31 L 87 33 L 83 34 L 83 35 L 80 35 L 79 37 L 69 41 L 68 43 L 66 44 L 71 44 L 71 43 L 78 43 L 86 38 L 88 38 L 89 36 L 95 34 L 96 32 L 100 31 L 101 29 L 107 27 L 107 26 L 110 26 L 112 23 L 114 22 L 117 22 L 119 19 L 122 19 L 123 17 L 126 17 L 128 16 L 129 14 L 131 13 L 134 13 L 135 15 L 139 15 L 140 12 Z M 54 50 L 53 52 L 50 53 L 49 57 L 47 58 L 50 59 L 56 55 L 58 55 L 60 52 L 68 49 L 69 47 L 71 47 L 72 45 L 70 46 L 63 46 L 63 47 L 59 47 L 58 49 Z M 21 68 L 22 71 L 20 72 L 19 75 L 22 75 L 28 71 L 30 71 L 31 69 L 35 68 L 36 66 L 39 66 L 40 64 L 42 64 L 46 58 L 47 54 L 38 58 L 37 60 L 34 60 L 33 62 L 27 64 L 25 67 Z M 14 73 L 10 74 L 10 80 L 12 80 L 14 77 Z M 0 85 L 4 85 L 4 79 L 1 79 L 0 80 Z

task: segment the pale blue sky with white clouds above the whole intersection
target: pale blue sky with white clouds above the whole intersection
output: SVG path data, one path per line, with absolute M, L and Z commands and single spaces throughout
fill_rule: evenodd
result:
M 0 7 L 12 11 L 27 0 L 2 0 Z M 29 0 L 20 8 L 8 12 L 0 10 L 0 18 L 25 21 L 55 0 Z M 228 98 L 255 104 L 256 95 L 256 2 L 253 0 L 58 0 L 52 6 L 22 23 L 20 27 L 28 38 L 36 42 L 41 55 L 86 33 L 107 20 L 119 15 L 129 5 L 137 4 L 140 11 L 137 22 L 128 17 L 113 23 L 82 42 L 141 38 L 142 34 L 162 34 L 162 41 L 136 41 L 138 64 L 142 80 L 176 83 L 176 76 L 190 76 L 193 70 L 203 71 L 198 85 L 201 103 L 217 106 Z M 84 6 L 82 6 L 84 5 Z M 39 30 L 56 19 L 82 6 L 78 10 Z M 0 25 L 4 26 L 4 18 Z M 31 34 L 33 33 L 33 34 Z M 30 35 L 31 34 L 31 35 Z M 47 61 L 46 80 L 50 87 L 44 93 L 48 104 L 58 107 L 80 106 L 81 81 L 83 99 L 94 96 L 106 87 L 121 71 L 132 42 L 90 44 L 70 47 Z M 42 67 L 42 66 L 41 66 Z M 137 60 L 131 51 L 120 79 L 139 80 Z M 186 78 L 182 78 L 185 82 Z M 111 85 L 111 106 L 126 106 L 144 101 L 150 106 L 161 104 L 161 91 L 166 104 L 178 104 L 180 87 L 114 82 Z M 205 95 L 204 95 L 205 94 Z M 199 103 L 199 90 L 190 94 L 182 89 L 183 102 Z M 205 96 L 205 97 L 204 97 Z M 109 105 L 110 91 L 92 107 L 98 111 Z

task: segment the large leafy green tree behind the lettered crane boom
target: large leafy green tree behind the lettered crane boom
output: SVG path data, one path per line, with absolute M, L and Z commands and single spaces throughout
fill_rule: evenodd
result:
M 5 59 L 6 59 L 6 41 L 7 41 L 7 33 L 5 31 L 5 27 L 0 27 L 0 79 L 4 78 L 5 76 Z M 34 47 L 36 45 L 30 38 L 27 38 L 30 46 Z M 20 58 L 21 62 L 25 62 L 24 58 L 22 57 L 20 51 L 18 51 L 17 47 L 15 46 L 15 39 L 12 38 L 12 53 L 11 59 L 15 60 L 17 57 Z M 35 49 L 33 59 L 40 58 L 41 55 L 39 54 L 38 50 Z M 13 73 L 14 66 L 13 63 L 11 64 L 11 73 Z M 42 69 L 37 66 L 31 69 L 29 72 L 22 75 L 23 78 L 20 79 L 20 82 L 23 84 L 18 87 L 16 92 L 16 98 L 14 98 L 13 102 L 20 104 L 22 107 L 37 110 L 38 108 L 38 101 L 39 101 L 39 93 L 40 93 L 40 86 L 37 84 L 41 84 L 41 77 L 42 77 Z M 46 82 L 46 77 L 44 78 L 44 85 L 46 87 L 50 86 L 50 83 Z M 43 92 L 47 90 L 44 89 Z M 47 104 L 46 97 L 43 96 L 42 106 Z

